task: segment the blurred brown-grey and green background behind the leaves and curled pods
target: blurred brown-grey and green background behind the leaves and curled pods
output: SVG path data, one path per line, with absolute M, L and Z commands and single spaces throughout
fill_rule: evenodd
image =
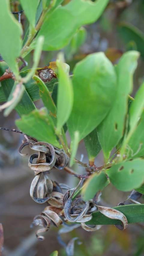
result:
M 64 0 L 63 5 L 69 0 Z M 12 11 L 20 11 L 19 1 L 10 1 Z M 17 15 L 15 15 L 16 17 Z M 73 36 L 70 43 L 63 49 L 65 61 L 70 65 L 70 72 L 75 64 L 90 53 L 105 52 L 107 57 L 116 64 L 125 51 L 138 50 L 141 57 L 134 75 L 134 96 L 144 80 L 144 0 L 110 0 L 101 18 L 94 24 L 82 27 Z M 18 17 L 16 17 L 18 18 Z M 28 29 L 28 21 L 22 13 L 21 23 L 24 33 Z M 55 61 L 58 51 L 43 51 L 39 67 L 49 66 Z M 33 52 L 26 56 L 28 67 L 32 67 Z M 19 63 L 21 65 L 21 63 Z M 41 100 L 35 102 L 42 106 Z M 13 111 L 9 117 L 0 113 L 1 127 L 14 129 L 14 120 L 18 114 Z M 69 135 L 67 135 L 70 144 Z M 18 153 L 23 137 L 19 134 L 0 133 L 0 221 L 4 227 L 4 251 L 6 256 L 46 256 L 58 250 L 60 256 L 65 256 L 64 249 L 57 242 L 57 229 L 52 228 L 44 242 L 35 238 L 35 230 L 30 229 L 33 217 L 43 210 L 43 205 L 37 205 L 29 196 L 29 187 L 33 174 L 28 168 L 28 157 L 22 158 Z M 24 150 L 25 151 L 25 150 Z M 28 153 L 28 152 L 26 152 Z M 30 150 L 29 150 L 30 154 Z M 28 155 L 29 155 L 28 154 Z M 79 143 L 77 157 L 88 163 L 88 156 L 83 140 Z M 103 164 L 102 152 L 95 159 L 95 165 Z M 85 174 L 85 169 L 75 164 L 73 170 Z M 52 170 L 50 178 L 65 182 L 70 187 L 76 184 L 76 178 L 64 170 Z M 102 205 L 116 206 L 123 202 L 129 193 L 116 190 L 112 184 L 107 186 L 102 194 Z M 143 197 L 140 199 L 143 202 Z M 75 245 L 76 256 L 95 255 L 144 255 L 144 224 L 130 224 L 120 231 L 114 226 L 103 226 L 96 232 L 86 232 L 81 228 L 62 235 L 66 243 L 73 237 L 79 237 L 81 245 Z

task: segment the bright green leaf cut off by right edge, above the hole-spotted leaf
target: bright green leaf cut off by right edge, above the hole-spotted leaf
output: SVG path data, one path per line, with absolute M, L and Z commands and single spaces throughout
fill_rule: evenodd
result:
M 144 83 L 139 88 L 130 108 L 130 132 L 135 130 L 144 108 Z

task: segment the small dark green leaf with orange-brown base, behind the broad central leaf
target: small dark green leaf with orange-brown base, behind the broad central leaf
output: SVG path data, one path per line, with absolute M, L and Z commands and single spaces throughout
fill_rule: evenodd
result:
M 86 151 L 88 153 L 89 164 L 90 166 L 93 166 L 95 157 L 101 151 L 101 145 L 98 140 L 97 129 L 89 133 L 84 138 L 84 142 L 85 142 Z

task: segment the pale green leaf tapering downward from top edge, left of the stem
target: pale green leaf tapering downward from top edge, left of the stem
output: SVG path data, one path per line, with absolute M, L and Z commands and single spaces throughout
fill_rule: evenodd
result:
M 39 2 L 40 0 L 20 0 L 24 13 L 33 28 L 35 27 L 36 12 Z

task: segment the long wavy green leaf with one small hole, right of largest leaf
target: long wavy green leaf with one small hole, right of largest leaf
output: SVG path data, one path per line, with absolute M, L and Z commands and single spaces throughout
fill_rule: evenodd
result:
M 138 57 L 139 53 L 137 51 L 129 51 L 121 57 L 116 66 L 117 93 L 113 107 L 97 127 L 105 162 L 107 162 L 110 152 L 123 136 L 125 116 L 128 111 L 128 94 L 132 92 L 133 74 L 137 67 Z

